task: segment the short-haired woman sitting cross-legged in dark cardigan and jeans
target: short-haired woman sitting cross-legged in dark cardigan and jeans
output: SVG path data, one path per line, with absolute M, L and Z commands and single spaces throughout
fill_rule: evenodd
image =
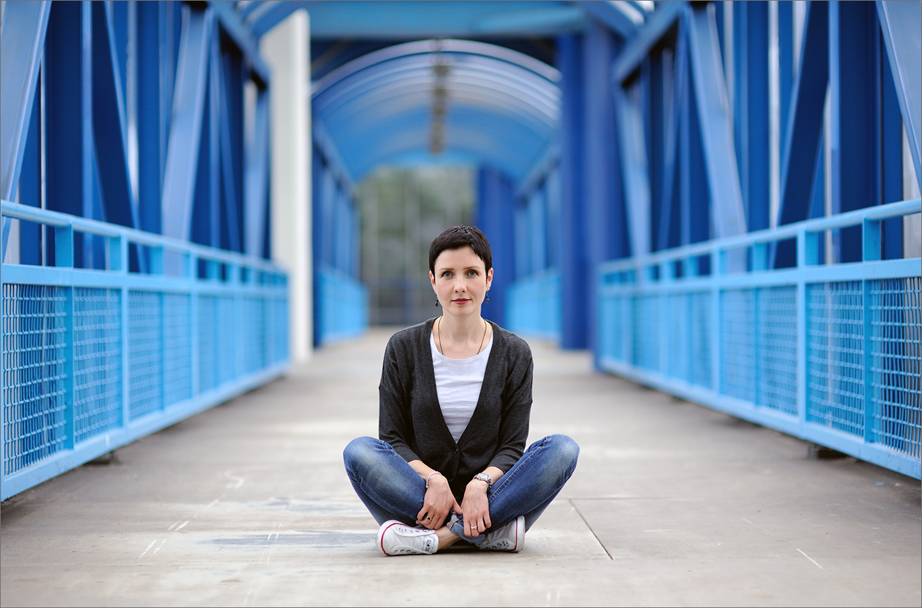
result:
M 480 316 L 493 279 L 483 233 L 456 226 L 433 240 L 429 279 L 443 314 L 387 344 L 380 439 L 349 443 L 349 479 L 381 524 L 385 555 L 434 554 L 460 540 L 521 551 L 579 448 L 552 435 L 525 450 L 531 350 Z

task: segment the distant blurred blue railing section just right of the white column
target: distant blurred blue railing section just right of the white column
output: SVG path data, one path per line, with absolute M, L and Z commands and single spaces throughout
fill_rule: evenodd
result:
M 330 266 L 316 270 L 317 345 L 327 345 L 368 329 L 368 289 Z

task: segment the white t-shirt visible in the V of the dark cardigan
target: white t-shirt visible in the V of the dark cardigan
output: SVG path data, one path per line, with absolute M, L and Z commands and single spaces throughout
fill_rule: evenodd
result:
M 477 407 L 483 374 L 487 370 L 487 359 L 490 358 L 493 346 L 493 336 L 490 336 L 490 343 L 479 355 L 467 359 L 445 357 L 436 347 L 435 336 L 432 333 L 429 334 L 429 345 L 432 349 L 435 390 L 439 394 L 442 416 L 457 443 Z

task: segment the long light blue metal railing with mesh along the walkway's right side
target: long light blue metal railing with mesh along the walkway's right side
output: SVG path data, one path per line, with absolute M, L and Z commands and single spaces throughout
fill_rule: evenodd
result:
M 881 221 L 920 208 L 600 264 L 599 366 L 919 478 L 922 260 L 881 260 Z M 850 226 L 863 262 L 822 263 L 824 232 Z M 773 243 L 789 239 L 797 266 L 766 270 Z

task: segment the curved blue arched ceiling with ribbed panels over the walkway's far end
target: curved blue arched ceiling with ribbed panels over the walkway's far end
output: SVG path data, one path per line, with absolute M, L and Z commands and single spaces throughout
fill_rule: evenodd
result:
M 560 120 L 560 73 L 474 41 L 397 44 L 313 83 L 313 117 L 354 179 L 381 164 L 485 164 L 522 181 Z

